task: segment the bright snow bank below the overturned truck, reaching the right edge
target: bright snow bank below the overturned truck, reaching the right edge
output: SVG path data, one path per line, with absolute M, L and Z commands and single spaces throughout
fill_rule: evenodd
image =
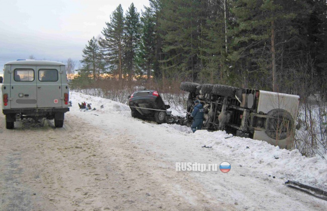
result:
M 307 158 L 298 150 L 279 149 L 265 141 L 231 137 L 225 131 L 197 131 L 197 139 L 234 163 L 274 175 L 327 189 L 327 160 Z M 228 138 L 231 137 L 231 138 Z

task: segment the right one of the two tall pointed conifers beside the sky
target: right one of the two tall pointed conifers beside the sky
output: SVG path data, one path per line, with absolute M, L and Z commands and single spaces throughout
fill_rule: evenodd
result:
M 129 80 L 132 80 L 136 69 L 135 60 L 139 50 L 141 28 L 140 15 L 133 3 L 128 8 L 125 19 L 124 66 Z

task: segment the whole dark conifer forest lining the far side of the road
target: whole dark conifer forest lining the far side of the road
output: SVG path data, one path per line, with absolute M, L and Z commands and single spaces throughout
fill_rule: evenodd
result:
M 119 5 L 83 50 L 75 81 L 188 80 L 324 95 L 326 12 L 326 0 L 149 0 L 125 13 Z

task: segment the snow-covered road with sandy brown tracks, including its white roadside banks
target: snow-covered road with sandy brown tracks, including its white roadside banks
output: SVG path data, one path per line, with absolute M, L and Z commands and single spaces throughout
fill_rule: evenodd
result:
M 0 210 L 327 210 L 327 201 L 284 185 L 327 189 L 325 160 L 133 119 L 127 105 L 100 97 L 70 99 L 61 129 L 23 120 L 6 130 L 0 115 Z M 81 101 L 97 110 L 79 111 Z M 176 171 L 176 162 L 223 161 L 228 173 Z

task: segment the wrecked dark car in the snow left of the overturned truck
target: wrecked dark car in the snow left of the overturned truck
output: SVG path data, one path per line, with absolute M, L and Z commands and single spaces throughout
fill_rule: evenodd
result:
M 155 90 L 135 91 L 128 100 L 132 117 L 153 119 L 158 124 L 167 122 L 167 109 L 160 94 Z

